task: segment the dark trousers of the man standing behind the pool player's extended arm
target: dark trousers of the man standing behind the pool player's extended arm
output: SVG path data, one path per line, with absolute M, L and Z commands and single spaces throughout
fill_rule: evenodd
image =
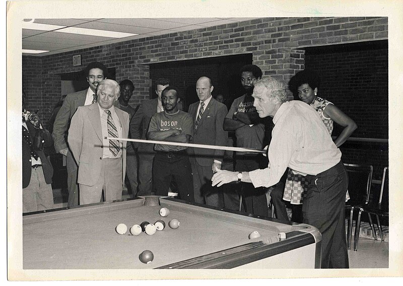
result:
M 237 155 L 236 170 L 252 171 L 260 167 L 260 157 L 256 155 Z M 265 188 L 255 188 L 252 183 L 241 183 L 240 193 L 245 212 L 267 216 L 267 198 Z

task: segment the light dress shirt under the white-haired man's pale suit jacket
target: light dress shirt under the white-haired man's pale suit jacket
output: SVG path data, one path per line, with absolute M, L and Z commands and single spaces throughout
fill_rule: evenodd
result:
M 119 158 L 122 156 L 122 142 L 119 142 L 119 153 L 115 156 L 112 154 L 112 152 L 109 150 L 109 139 L 104 139 L 105 137 L 110 137 L 108 134 L 108 114 L 105 112 L 106 109 L 101 108 L 101 106 L 99 106 L 99 104 L 97 104 L 99 107 L 99 115 L 101 117 L 101 129 L 102 129 L 102 143 L 103 143 L 103 158 Z M 113 123 L 117 129 L 117 136 L 119 138 L 122 138 L 122 125 L 119 121 L 119 118 L 117 117 L 116 111 L 115 111 L 115 107 L 112 105 L 112 107 L 109 108 L 110 111 L 110 115 L 113 119 Z

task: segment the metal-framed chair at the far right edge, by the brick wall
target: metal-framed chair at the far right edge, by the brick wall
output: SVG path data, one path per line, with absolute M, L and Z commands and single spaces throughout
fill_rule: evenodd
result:
M 381 183 L 381 191 L 379 193 L 379 197 L 371 197 L 368 196 L 370 199 L 367 203 L 362 206 L 357 206 L 355 208 L 359 209 L 358 218 L 356 222 L 356 231 L 354 237 L 354 250 L 357 251 L 358 245 L 358 238 L 360 233 L 360 224 L 361 224 L 361 213 L 366 212 L 368 213 L 369 223 L 371 225 L 372 233 L 374 234 L 374 239 L 377 240 L 374 225 L 372 223 L 371 214 L 376 216 L 378 232 L 381 237 L 381 241 L 383 240 L 383 233 L 382 233 L 382 225 L 379 221 L 379 216 L 389 216 L 389 171 L 388 167 L 383 169 L 383 176 L 382 176 L 382 183 Z

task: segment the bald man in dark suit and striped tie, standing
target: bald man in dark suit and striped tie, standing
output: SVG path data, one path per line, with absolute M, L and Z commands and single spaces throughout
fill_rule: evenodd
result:
M 194 144 L 226 146 L 228 132 L 223 123 L 227 106 L 211 95 L 214 86 L 211 79 L 201 77 L 196 82 L 199 101 L 190 104 L 189 114 L 194 120 Z M 194 201 L 222 207 L 223 199 L 219 189 L 212 187 L 211 178 L 221 169 L 224 150 L 188 148 L 193 173 Z

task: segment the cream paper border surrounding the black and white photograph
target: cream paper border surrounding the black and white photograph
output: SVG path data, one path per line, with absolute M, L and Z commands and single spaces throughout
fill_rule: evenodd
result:
M 401 42 L 403 42 L 403 17 L 400 1 L 11 1 L 7 2 L 7 247 L 9 280 L 130 280 L 130 279 L 204 279 L 204 278 L 297 278 L 297 277 L 399 277 L 402 269 L 402 222 L 397 218 L 401 209 L 401 119 L 402 99 L 399 84 L 403 82 Z M 142 270 L 128 269 L 86 269 L 86 270 L 35 270 L 23 269 L 22 256 L 22 180 L 21 146 L 19 126 L 21 110 L 20 89 L 22 86 L 22 29 L 24 19 L 113 19 L 113 18 L 217 18 L 217 19 L 266 19 L 272 17 L 291 18 L 341 18 L 341 17 L 381 17 L 387 19 L 386 36 L 381 40 L 388 43 L 388 114 L 389 117 L 389 181 L 391 199 L 389 207 L 388 267 L 360 269 L 256 269 L 248 270 Z M 240 20 L 242 21 L 242 20 Z M 248 20 L 246 20 L 248 21 Z M 250 20 L 249 20 L 250 21 Z M 200 28 L 202 31 L 204 28 Z M 175 33 L 169 31 L 167 33 Z M 180 33 L 180 32 L 179 32 Z M 147 36 L 152 37 L 152 36 Z M 365 37 L 365 36 L 363 36 Z M 136 41 L 133 39 L 132 41 Z M 113 45 L 101 43 L 100 45 Z M 81 48 L 80 48 L 81 49 Z M 81 50 L 82 51 L 82 50 Z M 246 52 L 239 49 L 238 53 Z M 68 52 L 68 51 L 60 51 Z M 50 54 L 50 53 L 49 53 Z M 69 55 L 74 53 L 69 53 Z M 209 56 L 223 55 L 211 53 Z M 200 52 L 200 57 L 203 53 Z M 38 57 L 40 59 L 40 57 Z M 37 60 L 38 60 L 37 59 Z M 176 60 L 185 60 L 180 56 Z M 254 63 L 257 58 L 253 58 Z M 40 60 L 39 60 L 40 61 Z M 153 61 L 153 59 L 151 59 Z M 139 64 L 147 64 L 142 62 Z M 156 60 L 156 63 L 160 61 Z M 72 72 L 78 71 L 73 69 Z M 290 72 L 290 75 L 293 73 Z M 287 79 L 284 78 L 283 79 Z M 47 83 L 49 84 L 49 83 Z M 51 83 L 50 83 L 51 84 Z M 147 87 L 149 84 L 146 84 Z M 147 88 L 145 87 L 145 88 Z M 145 89 L 143 94 L 148 93 Z M 370 116 L 370 115 L 369 115 Z M 5 180 L 2 180 L 6 183 Z M 5 198 L 6 201 L 6 198 Z M 372 242 L 371 242 L 372 243 Z M 380 241 L 373 243 L 381 244 Z M 365 248 L 366 241 L 360 240 L 359 247 Z M 360 249 L 358 249 L 360 251 Z M 385 251 L 384 249 L 381 251 Z M 349 255 L 358 252 L 349 250 Z M 368 259 L 371 257 L 367 257 Z M 358 258 L 357 260 L 361 260 Z

